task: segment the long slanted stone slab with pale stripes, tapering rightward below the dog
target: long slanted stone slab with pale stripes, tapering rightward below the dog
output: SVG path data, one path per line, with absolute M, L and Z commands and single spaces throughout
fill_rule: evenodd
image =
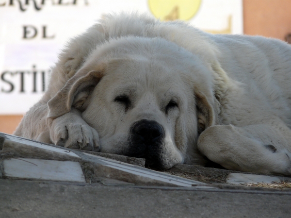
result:
M 204 185 L 204 183 L 194 180 L 168 175 L 166 173 L 88 154 L 80 150 L 45 145 L 43 143 L 13 135 L 3 134 L 3 136 L 5 138 L 3 149 L 1 151 L 3 158 L 22 157 L 56 161 L 78 161 L 80 162 L 82 169 L 85 171 L 85 176 L 90 174 L 90 178 L 86 177 L 87 181 L 90 181 L 92 179 L 91 177 L 105 177 L 139 185 L 183 187 Z M 61 166 L 62 162 L 59 162 L 59 165 Z

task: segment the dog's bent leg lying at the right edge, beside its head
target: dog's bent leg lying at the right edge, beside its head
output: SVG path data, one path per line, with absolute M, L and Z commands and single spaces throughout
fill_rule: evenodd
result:
M 199 136 L 197 146 L 211 161 L 230 170 L 291 175 L 291 130 L 285 127 L 211 126 Z

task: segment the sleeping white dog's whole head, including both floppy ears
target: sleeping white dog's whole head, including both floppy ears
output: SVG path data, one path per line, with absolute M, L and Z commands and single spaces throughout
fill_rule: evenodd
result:
M 210 68 L 160 38 L 114 39 L 94 50 L 49 101 L 49 117 L 82 111 L 100 151 L 158 168 L 203 163 L 197 137 L 215 122 Z

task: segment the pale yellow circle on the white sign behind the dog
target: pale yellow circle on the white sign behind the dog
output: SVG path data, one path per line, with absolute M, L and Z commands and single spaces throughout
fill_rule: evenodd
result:
M 198 11 L 201 0 L 148 0 L 150 11 L 161 20 L 189 20 Z

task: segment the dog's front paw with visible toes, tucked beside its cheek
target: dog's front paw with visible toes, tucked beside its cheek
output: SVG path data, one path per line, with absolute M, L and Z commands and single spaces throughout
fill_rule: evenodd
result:
M 99 136 L 78 114 L 67 113 L 55 118 L 49 130 L 51 141 L 58 146 L 99 151 Z

